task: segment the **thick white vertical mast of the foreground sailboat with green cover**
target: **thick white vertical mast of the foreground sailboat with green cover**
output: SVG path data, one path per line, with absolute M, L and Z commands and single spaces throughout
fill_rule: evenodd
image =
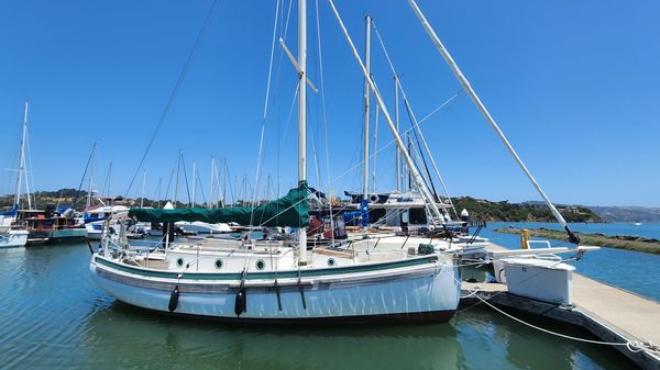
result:
M 298 0 L 298 183 L 307 181 L 307 0 Z M 298 265 L 307 265 L 307 227 L 298 231 Z

